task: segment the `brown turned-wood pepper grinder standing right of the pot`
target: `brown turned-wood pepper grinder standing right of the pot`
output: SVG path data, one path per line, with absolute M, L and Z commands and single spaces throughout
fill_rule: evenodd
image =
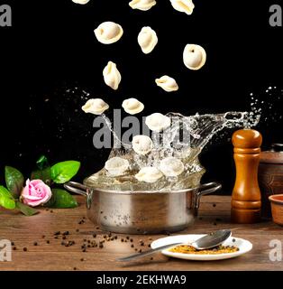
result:
M 236 181 L 232 193 L 231 219 L 235 223 L 251 224 L 260 221 L 260 187 L 258 167 L 262 136 L 253 129 L 233 133 Z

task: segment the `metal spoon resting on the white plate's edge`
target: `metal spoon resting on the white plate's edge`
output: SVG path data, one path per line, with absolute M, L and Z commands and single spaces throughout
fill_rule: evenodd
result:
M 160 252 L 164 249 L 167 249 L 169 247 L 175 247 L 178 245 L 189 245 L 192 247 L 195 247 L 198 250 L 204 250 L 204 249 L 209 249 L 212 247 L 216 247 L 218 245 L 221 245 L 227 238 L 231 237 L 231 230 L 230 229 L 220 229 L 218 231 L 215 231 L 213 233 L 207 234 L 202 238 L 198 238 L 196 241 L 189 243 L 189 244 L 185 244 L 185 243 L 171 243 L 171 244 L 167 244 L 165 246 L 161 246 L 161 247 L 156 247 L 154 249 L 142 252 L 142 253 L 138 253 L 138 254 L 133 254 L 131 256 L 125 256 L 122 258 L 118 258 L 117 261 L 132 261 L 133 259 L 142 257 L 142 256 L 148 256 L 151 254 L 154 254 L 156 252 Z

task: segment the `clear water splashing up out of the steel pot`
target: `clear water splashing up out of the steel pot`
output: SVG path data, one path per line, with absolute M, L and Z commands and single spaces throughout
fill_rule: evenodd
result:
M 130 163 L 128 171 L 122 176 L 113 177 L 102 169 L 87 179 L 87 185 L 101 189 L 117 191 L 177 191 L 196 187 L 205 169 L 198 162 L 201 153 L 210 139 L 225 127 L 256 126 L 260 114 L 254 112 L 227 112 L 217 115 L 198 115 L 185 117 L 177 113 L 169 113 L 171 126 L 163 132 L 152 132 L 153 149 L 150 154 L 140 155 L 132 150 L 132 145 L 123 144 L 112 129 L 111 122 L 105 116 L 105 123 L 114 135 L 114 148 L 109 159 L 122 157 Z M 118 145 L 119 144 L 119 145 Z M 135 174 L 143 167 L 160 167 L 160 161 L 165 157 L 178 158 L 185 167 L 184 172 L 177 177 L 163 176 L 157 182 L 139 182 Z

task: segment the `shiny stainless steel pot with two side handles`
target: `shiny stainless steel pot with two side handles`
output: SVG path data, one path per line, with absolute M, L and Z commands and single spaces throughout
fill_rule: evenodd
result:
M 87 197 L 87 217 L 106 231 L 158 234 L 187 228 L 194 222 L 201 196 L 217 191 L 210 182 L 182 191 L 110 191 L 68 182 L 68 191 Z

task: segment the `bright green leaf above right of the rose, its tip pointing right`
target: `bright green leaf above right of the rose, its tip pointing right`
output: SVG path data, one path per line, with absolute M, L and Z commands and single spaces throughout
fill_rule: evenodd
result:
M 51 179 L 56 183 L 68 182 L 78 172 L 80 163 L 66 161 L 51 166 Z

